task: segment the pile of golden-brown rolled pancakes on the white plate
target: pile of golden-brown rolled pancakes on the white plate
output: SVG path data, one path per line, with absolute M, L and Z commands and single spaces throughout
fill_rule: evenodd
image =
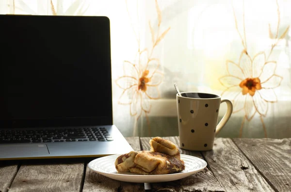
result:
M 149 144 L 150 151 L 131 151 L 120 155 L 115 160 L 116 170 L 141 175 L 163 175 L 185 169 L 184 161 L 180 160 L 178 147 L 174 143 L 155 137 Z

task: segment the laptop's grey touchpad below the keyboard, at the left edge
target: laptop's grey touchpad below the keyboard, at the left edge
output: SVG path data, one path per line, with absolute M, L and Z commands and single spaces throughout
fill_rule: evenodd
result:
M 46 144 L 3 144 L 0 145 L 0 159 L 4 157 L 33 157 L 39 155 L 49 155 Z

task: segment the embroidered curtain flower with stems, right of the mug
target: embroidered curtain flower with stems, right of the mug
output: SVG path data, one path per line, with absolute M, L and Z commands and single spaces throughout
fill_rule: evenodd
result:
M 277 4 L 277 32 L 275 34 L 275 43 L 272 44 L 270 53 L 266 56 L 265 52 L 257 53 L 253 58 L 249 56 L 244 24 L 244 2 L 243 2 L 243 35 L 238 30 L 238 23 L 234 12 L 235 26 L 242 40 L 243 50 L 236 64 L 233 61 L 226 61 L 227 75 L 219 78 L 220 83 L 226 87 L 222 96 L 230 99 L 233 102 L 235 112 L 244 110 L 244 117 L 240 128 L 240 137 L 242 137 L 242 128 L 245 120 L 251 121 L 256 113 L 259 113 L 264 135 L 267 137 L 267 131 L 263 117 L 268 112 L 268 103 L 277 101 L 274 88 L 280 86 L 283 77 L 275 74 L 277 63 L 276 61 L 268 61 L 273 49 L 278 44 L 279 40 L 284 38 L 289 27 L 278 36 L 278 28 L 280 24 L 280 11 Z M 269 25 L 270 27 L 270 25 Z M 269 30 L 269 33 L 271 30 Z M 242 38 L 244 37 L 244 38 Z M 270 34 L 273 37 L 273 34 Z M 243 102 L 242 102 L 243 101 Z

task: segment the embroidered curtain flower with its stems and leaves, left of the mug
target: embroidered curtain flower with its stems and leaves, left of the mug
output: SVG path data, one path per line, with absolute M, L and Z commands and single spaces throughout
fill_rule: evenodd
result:
M 157 32 L 154 31 L 149 20 L 148 27 L 150 29 L 152 40 L 150 50 L 148 50 L 148 48 L 141 48 L 141 37 L 137 35 L 140 34 L 140 32 L 134 32 L 138 44 L 137 58 L 134 63 L 124 61 L 124 76 L 116 80 L 116 84 L 123 89 L 118 103 L 121 105 L 129 105 L 130 115 L 135 118 L 133 128 L 134 136 L 136 135 L 137 122 L 143 114 L 146 116 L 148 133 L 151 135 L 149 126 L 150 122 L 147 118 L 147 114 L 150 112 L 151 108 L 150 100 L 159 99 L 161 97 L 158 88 L 163 80 L 163 74 L 160 71 L 160 59 L 154 58 L 152 55 L 154 49 L 170 30 L 170 27 L 165 31 L 160 32 L 162 13 L 157 0 L 155 0 L 155 4 L 158 17 L 158 30 Z M 130 99 L 128 99 L 128 97 Z

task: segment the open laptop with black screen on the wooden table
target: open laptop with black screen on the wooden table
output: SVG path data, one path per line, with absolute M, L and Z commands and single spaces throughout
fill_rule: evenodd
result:
M 113 125 L 105 16 L 0 15 L 0 160 L 132 150 Z

